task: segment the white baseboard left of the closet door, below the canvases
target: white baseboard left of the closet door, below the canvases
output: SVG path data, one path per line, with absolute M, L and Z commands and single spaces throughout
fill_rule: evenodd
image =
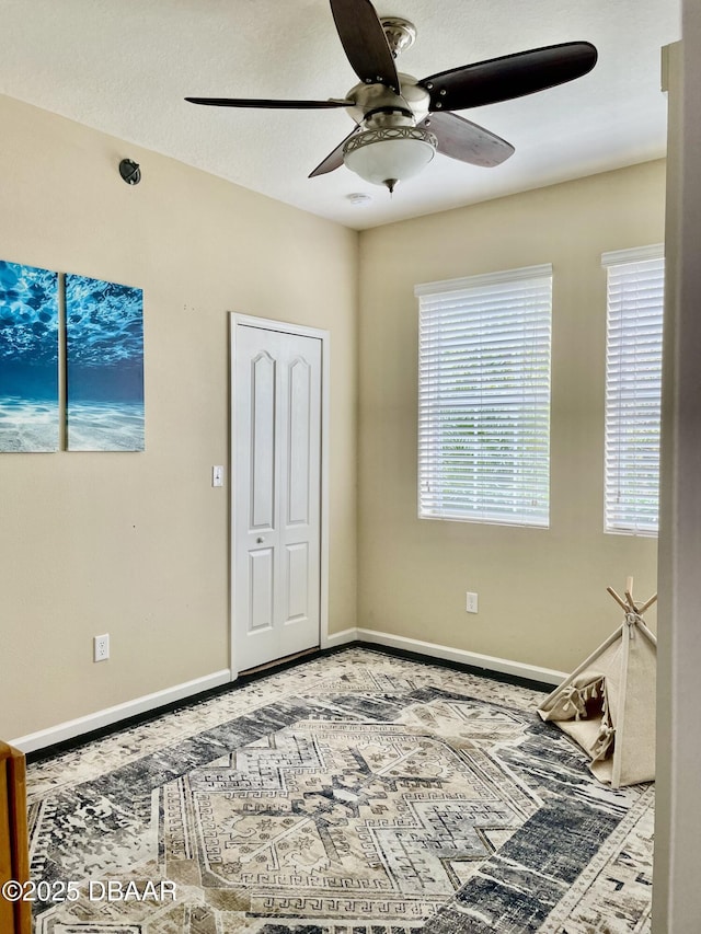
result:
M 106 707 L 104 711 L 96 711 L 94 714 L 88 714 L 74 720 L 66 720 L 57 726 L 48 727 L 48 729 L 41 729 L 38 733 L 30 733 L 26 736 L 21 736 L 19 739 L 11 739 L 10 746 L 14 746 L 22 752 L 34 752 L 37 749 L 54 746 L 56 742 L 73 739 L 84 733 L 112 726 L 112 724 L 119 720 L 149 713 L 150 711 L 158 710 L 158 707 L 164 707 L 166 704 L 192 697 L 195 694 L 200 694 L 203 691 L 218 688 L 220 684 L 227 684 L 229 681 L 231 681 L 231 672 L 226 668 L 222 671 L 215 671 L 214 674 L 206 674 L 204 678 L 195 678 L 194 681 L 185 681 L 183 684 L 176 684 L 174 688 L 166 688 L 164 691 L 146 694 L 143 697 L 136 697 L 134 701 L 126 701 L 124 704 L 116 704 L 114 707 Z

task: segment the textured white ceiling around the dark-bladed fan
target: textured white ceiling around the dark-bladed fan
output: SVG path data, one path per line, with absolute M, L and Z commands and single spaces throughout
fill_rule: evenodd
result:
M 343 109 L 183 101 L 344 96 L 357 79 L 327 0 L 0 0 L 0 92 L 358 229 L 664 155 L 659 57 L 680 37 L 679 0 L 376 5 L 415 23 L 416 43 L 398 66 L 416 78 L 578 39 L 594 43 L 599 60 L 572 83 L 461 112 L 516 147 L 503 165 L 437 155 L 393 197 L 345 166 L 307 177 L 353 128 Z M 371 204 L 353 206 L 355 192 Z

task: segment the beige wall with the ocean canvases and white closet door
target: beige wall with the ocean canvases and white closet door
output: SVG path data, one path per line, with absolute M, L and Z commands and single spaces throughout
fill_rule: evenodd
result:
M 0 454 L 7 739 L 228 668 L 229 311 L 331 331 L 330 629 L 355 625 L 357 234 L 7 97 L 0 125 L 0 258 L 143 288 L 147 418 L 145 453 Z

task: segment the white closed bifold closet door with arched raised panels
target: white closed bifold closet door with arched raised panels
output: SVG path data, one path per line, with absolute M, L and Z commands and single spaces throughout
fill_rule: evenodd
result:
M 245 671 L 320 642 L 321 341 L 238 324 L 233 643 Z

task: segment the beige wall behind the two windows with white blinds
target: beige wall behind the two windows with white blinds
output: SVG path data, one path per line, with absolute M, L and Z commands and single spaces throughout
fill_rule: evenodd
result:
M 600 256 L 662 242 L 664 201 L 655 162 L 361 234 L 359 626 L 568 670 L 620 622 L 607 585 L 656 589 L 656 541 L 602 532 Z M 414 285 L 540 263 L 554 273 L 550 529 L 418 520 Z

